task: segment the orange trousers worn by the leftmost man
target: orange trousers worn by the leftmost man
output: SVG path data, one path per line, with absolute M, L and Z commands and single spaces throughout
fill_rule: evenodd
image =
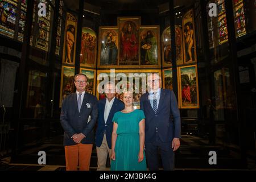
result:
M 89 171 L 92 147 L 93 144 L 82 143 L 65 146 L 66 170 L 77 171 L 79 166 L 80 171 Z

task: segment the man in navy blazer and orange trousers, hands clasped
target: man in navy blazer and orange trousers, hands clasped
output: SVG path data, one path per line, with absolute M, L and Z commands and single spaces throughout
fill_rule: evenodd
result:
M 93 127 L 97 121 L 97 98 L 85 93 L 87 77 L 75 76 L 76 92 L 65 98 L 61 107 L 60 122 L 64 129 L 64 146 L 67 171 L 89 171 L 94 143 Z

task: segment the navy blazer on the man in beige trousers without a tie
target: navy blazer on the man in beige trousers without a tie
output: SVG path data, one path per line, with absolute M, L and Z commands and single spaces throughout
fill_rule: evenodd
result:
M 109 117 L 106 123 L 104 119 L 105 105 L 106 105 L 106 98 L 98 101 L 98 126 L 96 131 L 96 146 L 97 147 L 101 146 L 101 143 L 104 137 L 104 131 L 106 130 L 106 140 L 108 142 L 109 148 L 111 148 L 111 138 L 112 138 L 112 131 L 113 131 L 112 119 L 115 113 L 125 109 L 125 105 L 123 104 L 122 101 L 115 98 L 112 108 L 110 109 Z

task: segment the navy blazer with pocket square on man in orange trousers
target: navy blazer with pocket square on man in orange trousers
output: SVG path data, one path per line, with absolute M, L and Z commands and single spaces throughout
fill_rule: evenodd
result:
M 89 116 L 91 118 L 88 122 Z M 96 124 L 97 117 L 98 106 L 95 96 L 85 93 L 79 112 L 76 92 L 68 95 L 62 103 L 60 114 L 60 123 L 64 129 L 64 146 L 77 144 L 71 137 L 79 133 L 85 135 L 85 138 L 81 140 L 82 144 L 94 143 L 93 127 Z

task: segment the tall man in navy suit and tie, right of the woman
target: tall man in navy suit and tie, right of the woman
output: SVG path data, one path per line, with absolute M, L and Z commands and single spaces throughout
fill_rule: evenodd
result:
M 147 166 L 159 170 L 158 150 L 164 170 L 174 170 L 174 151 L 180 146 L 180 112 L 172 90 L 162 89 L 157 73 L 148 75 L 148 93 L 141 97 L 145 119 Z

